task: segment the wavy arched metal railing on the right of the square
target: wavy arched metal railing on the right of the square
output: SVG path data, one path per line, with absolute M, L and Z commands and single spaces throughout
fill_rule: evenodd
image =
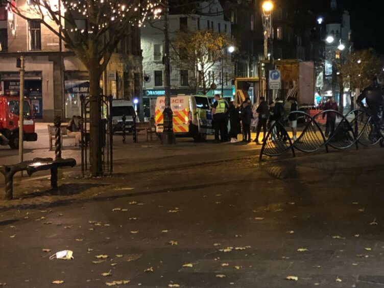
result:
M 334 133 L 326 138 L 319 122 L 329 112 L 335 113 L 341 121 L 334 128 Z M 295 141 L 291 140 L 283 124 L 292 114 L 300 120 L 304 118 L 305 123 L 303 131 L 298 132 L 300 136 Z M 288 127 L 288 129 L 291 128 Z M 329 147 L 341 150 L 355 145 L 358 149 L 358 144 L 368 147 L 377 143 L 382 147 L 384 141 L 382 130 L 374 117 L 363 109 L 354 109 L 346 115 L 335 110 L 324 110 L 314 116 L 302 111 L 294 111 L 284 114 L 280 121 L 272 125 L 263 141 L 259 159 L 261 160 L 262 155 L 279 156 L 289 150 L 295 157 L 295 149 L 306 153 L 325 149 L 328 153 Z

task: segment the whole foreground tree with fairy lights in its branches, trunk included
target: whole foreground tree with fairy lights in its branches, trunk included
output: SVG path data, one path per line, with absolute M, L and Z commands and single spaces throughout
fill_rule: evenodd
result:
M 89 72 L 90 171 L 102 174 L 100 78 L 119 41 L 149 15 L 159 13 L 157 0 L 29 0 L 11 9 L 26 20 L 39 19 L 73 50 Z

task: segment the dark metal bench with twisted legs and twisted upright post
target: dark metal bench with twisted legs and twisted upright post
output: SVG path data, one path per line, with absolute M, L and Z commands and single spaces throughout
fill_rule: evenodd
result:
M 55 117 L 55 160 L 52 158 L 34 158 L 33 160 L 23 161 L 15 165 L 1 165 L 0 173 L 4 175 L 5 179 L 5 199 L 11 200 L 13 198 L 13 176 L 19 171 L 27 171 L 31 176 L 38 171 L 51 170 L 51 186 L 57 188 L 57 170 L 59 167 L 74 167 L 76 160 L 73 158 L 61 158 L 61 133 L 60 133 L 61 119 Z

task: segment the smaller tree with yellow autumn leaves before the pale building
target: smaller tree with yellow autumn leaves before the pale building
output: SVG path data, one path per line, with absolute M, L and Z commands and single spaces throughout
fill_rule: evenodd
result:
M 219 79 L 222 65 L 224 71 L 231 67 L 226 53 L 230 44 L 227 35 L 210 30 L 180 32 L 172 40 L 171 61 L 176 68 L 188 70 L 189 86 L 195 88 L 196 93 L 205 95 L 212 85 L 216 85 L 215 79 Z M 228 77 L 231 76 L 229 73 Z

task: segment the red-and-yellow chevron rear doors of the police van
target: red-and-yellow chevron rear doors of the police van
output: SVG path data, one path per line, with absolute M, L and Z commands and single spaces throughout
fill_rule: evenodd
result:
M 165 108 L 165 97 L 158 97 L 155 108 L 155 126 L 156 133 L 162 133 L 164 118 L 163 111 Z M 189 101 L 188 96 L 171 97 L 171 109 L 173 112 L 173 131 L 175 133 L 188 133 L 188 113 Z

